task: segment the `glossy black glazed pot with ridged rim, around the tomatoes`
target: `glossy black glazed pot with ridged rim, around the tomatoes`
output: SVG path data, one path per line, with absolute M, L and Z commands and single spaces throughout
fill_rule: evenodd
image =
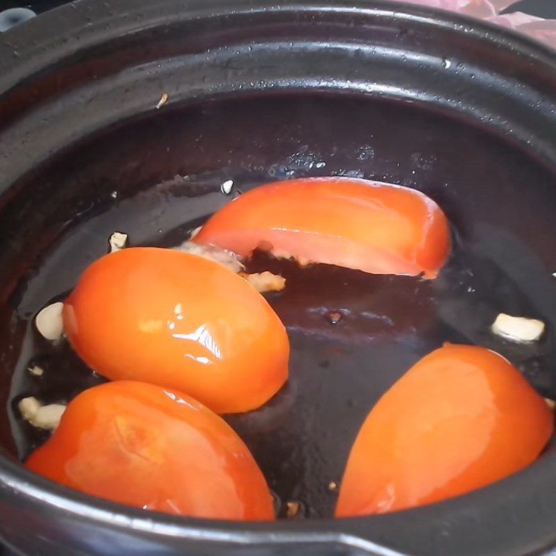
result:
M 556 546 L 556 453 L 466 496 L 333 520 L 364 416 L 443 341 L 502 352 L 556 397 L 556 58 L 448 13 L 363 0 L 83 0 L 0 38 L 0 536 L 24 555 L 489 555 Z M 161 95 L 167 103 L 156 108 Z M 291 379 L 230 416 L 301 518 L 220 523 L 146 514 L 27 473 L 44 440 L 22 395 L 101 382 L 33 315 L 72 288 L 115 229 L 172 245 L 227 197 L 273 179 L 347 175 L 423 190 L 454 229 L 434 282 L 282 265 L 270 302 Z M 343 321 L 327 322 L 327 311 Z M 489 334 L 498 311 L 548 323 L 539 344 Z M 26 373 L 39 361 L 40 381 Z

